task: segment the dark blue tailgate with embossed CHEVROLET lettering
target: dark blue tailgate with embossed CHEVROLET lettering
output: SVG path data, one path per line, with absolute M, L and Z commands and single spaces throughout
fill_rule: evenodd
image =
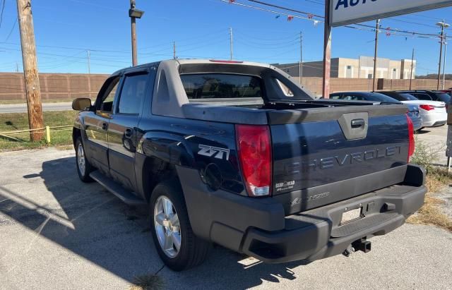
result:
M 268 116 L 273 197 L 287 215 L 403 181 L 409 150 L 406 107 L 287 111 Z

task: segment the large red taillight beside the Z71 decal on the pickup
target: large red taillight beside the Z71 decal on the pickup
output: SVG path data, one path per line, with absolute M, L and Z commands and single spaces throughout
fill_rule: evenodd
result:
M 270 195 L 272 169 L 270 128 L 236 125 L 235 133 L 239 163 L 248 195 Z

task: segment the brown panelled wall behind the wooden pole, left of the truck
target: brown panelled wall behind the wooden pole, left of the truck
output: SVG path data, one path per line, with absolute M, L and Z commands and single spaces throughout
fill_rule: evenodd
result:
M 108 75 L 40 73 L 41 99 L 95 98 Z M 25 102 L 23 73 L 0 73 L 0 100 Z

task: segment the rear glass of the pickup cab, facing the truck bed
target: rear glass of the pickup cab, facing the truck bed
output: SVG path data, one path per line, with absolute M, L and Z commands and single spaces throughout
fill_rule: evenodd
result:
M 263 95 L 262 80 L 255 75 L 196 73 L 181 75 L 189 99 L 220 99 L 259 97 Z

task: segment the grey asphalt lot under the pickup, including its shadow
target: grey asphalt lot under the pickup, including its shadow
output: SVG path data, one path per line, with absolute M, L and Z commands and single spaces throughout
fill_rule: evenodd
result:
M 266 265 L 216 247 L 172 272 L 144 211 L 81 183 L 73 150 L 3 152 L 0 166 L 0 289 L 129 289 L 159 271 L 167 289 L 452 289 L 452 234 L 411 224 L 350 258 Z

